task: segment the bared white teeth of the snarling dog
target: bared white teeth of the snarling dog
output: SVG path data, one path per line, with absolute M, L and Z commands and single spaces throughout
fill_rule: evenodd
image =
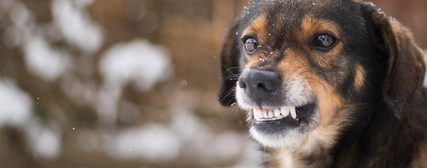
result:
M 272 110 L 254 108 L 254 118 L 256 121 L 280 120 L 289 114 L 291 114 L 293 119 L 296 119 L 295 106 L 283 106 Z

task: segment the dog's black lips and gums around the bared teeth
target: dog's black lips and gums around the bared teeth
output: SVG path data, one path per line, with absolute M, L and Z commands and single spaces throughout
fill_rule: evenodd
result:
M 265 123 L 265 122 L 277 122 L 277 121 L 294 121 L 294 122 L 299 122 L 301 120 L 304 120 L 306 117 L 309 117 L 310 114 L 313 112 L 314 108 L 315 108 L 315 103 L 311 102 L 311 103 L 306 103 L 304 105 L 300 105 L 300 106 L 277 106 L 276 108 L 266 108 L 266 107 L 254 107 L 252 108 L 251 112 L 252 112 L 252 120 L 255 121 L 255 124 L 259 124 L 259 123 Z M 284 107 L 290 107 L 290 108 L 295 108 L 295 117 L 291 114 L 292 112 L 290 112 L 289 114 L 281 114 L 281 116 L 277 116 L 275 115 L 274 117 L 269 117 L 268 119 L 260 119 L 260 117 L 255 117 L 254 110 L 261 110 L 261 111 L 272 111 L 273 113 L 275 112 L 275 110 L 277 109 L 281 109 Z

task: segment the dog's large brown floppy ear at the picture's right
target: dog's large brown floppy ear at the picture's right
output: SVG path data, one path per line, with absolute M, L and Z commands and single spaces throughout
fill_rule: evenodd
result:
M 397 118 L 418 95 L 426 71 L 422 51 L 409 29 L 371 3 L 365 4 L 371 15 L 377 60 L 386 65 L 383 100 Z

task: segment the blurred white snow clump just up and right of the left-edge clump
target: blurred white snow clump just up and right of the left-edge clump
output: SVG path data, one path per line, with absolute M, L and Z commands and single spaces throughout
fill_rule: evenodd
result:
M 24 46 L 24 53 L 29 69 L 46 80 L 55 80 L 70 65 L 70 55 L 66 51 L 52 48 L 42 37 L 29 38 Z

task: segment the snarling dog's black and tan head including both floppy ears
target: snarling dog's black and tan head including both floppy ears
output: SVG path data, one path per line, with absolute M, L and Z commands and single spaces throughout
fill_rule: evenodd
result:
M 254 0 L 245 10 L 223 44 L 219 101 L 248 110 L 263 145 L 338 131 L 374 103 L 400 118 L 422 85 L 412 35 L 370 3 Z

